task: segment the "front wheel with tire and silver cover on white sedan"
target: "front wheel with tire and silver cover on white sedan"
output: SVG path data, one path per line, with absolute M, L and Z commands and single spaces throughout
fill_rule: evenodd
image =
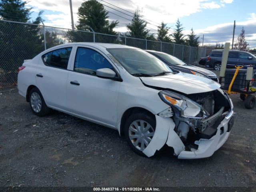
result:
M 132 114 L 124 126 L 124 136 L 130 148 L 141 156 L 151 142 L 156 128 L 156 120 L 149 114 Z

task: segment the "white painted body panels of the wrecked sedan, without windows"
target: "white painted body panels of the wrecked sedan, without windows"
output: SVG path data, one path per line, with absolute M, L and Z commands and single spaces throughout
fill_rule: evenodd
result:
M 42 55 L 58 48 L 72 46 L 72 52 L 66 70 L 44 65 Z M 112 64 L 122 80 L 100 78 L 73 71 L 77 47 L 91 48 L 105 57 Z M 136 77 L 129 74 L 107 48 L 132 48 L 116 44 L 71 43 L 50 48 L 38 56 L 24 62 L 24 68 L 18 74 L 19 93 L 26 97 L 28 87 L 36 86 L 46 105 L 50 108 L 65 112 L 79 118 L 96 122 L 119 132 L 121 119 L 130 108 L 143 108 L 154 114 L 156 130 L 150 144 L 143 153 L 148 157 L 160 150 L 164 144 L 174 148 L 178 158 L 204 158 L 213 154 L 228 138 L 228 118 L 218 126 L 215 136 L 209 140 L 197 141 L 198 150 L 185 151 L 185 146 L 176 134 L 175 123 L 170 117 L 160 117 L 158 114 L 167 108 L 158 95 L 160 90 L 175 90 L 184 94 L 209 92 L 220 88 L 220 85 L 203 77 L 178 73 L 156 77 Z M 43 77 L 38 77 L 40 74 Z M 70 84 L 78 82 L 79 85 Z M 145 86 L 147 85 L 147 86 Z M 151 88 L 157 87 L 158 89 Z M 231 112 L 233 112 L 231 110 Z M 229 118 L 232 114 L 229 115 Z M 224 126 L 224 134 L 220 135 L 220 127 Z

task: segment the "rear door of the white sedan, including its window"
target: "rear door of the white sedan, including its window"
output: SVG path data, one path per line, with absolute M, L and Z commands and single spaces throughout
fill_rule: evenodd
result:
M 46 104 L 66 109 L 66 80 L 72 46 L 58 48 L 42 55 L 36 71 L 36 84 Z

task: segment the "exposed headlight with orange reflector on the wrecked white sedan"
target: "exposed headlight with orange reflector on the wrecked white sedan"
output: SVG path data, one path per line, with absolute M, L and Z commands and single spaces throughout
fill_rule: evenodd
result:
M 159 96 L 174 109 L 177 117 L 201 119 L 209 115 L 202 106 L 183 95 L 164 90 L 159 92 Z

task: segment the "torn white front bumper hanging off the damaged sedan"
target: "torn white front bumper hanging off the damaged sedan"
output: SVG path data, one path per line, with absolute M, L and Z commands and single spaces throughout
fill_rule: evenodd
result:
M 216 128 L 216 134 L 209 139 L 201 138 L 196 140 L 194 144 L 198 145 L 198 148 L 191 148 L 190 151 L 186 150 L 184 143 L 174 131 L 175 124 L 172 118 L 162 118 L 156 115 L 156 131 L 154 137 L 143 153 L 148 157 L 153 156 L 156 150 L 160 150 L 164 144 L 167 144 L 174 149 L 174 154 L 179 159 L 198 159 L 212 156 L 226 142 L 230 134 L 230 129 L 233 126 L 234 111 L 231 100 L 230 105 L 230 110 L 222 114 L 226 116 Z

